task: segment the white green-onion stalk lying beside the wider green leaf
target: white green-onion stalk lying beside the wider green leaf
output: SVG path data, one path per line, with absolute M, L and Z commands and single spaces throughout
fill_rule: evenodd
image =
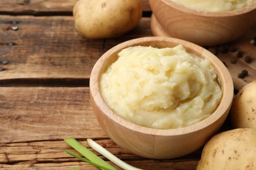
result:
M 95 143 L 95 141 L 93 141 L 93 139 L 87 139 L 87 142 L 91 146 L 91 148 L 93 148 L 94 150 L 96 150 L 97 152 L 99 152 L 100 154 L 105 156 L 106 158 L 108 158 L 108 160 L 112 161 L 117 166 L 119 166 L 123 169 L 139 170 L 139 168 L 133 167 L 133 166 L 125 163 L 124 161 L 120 160 L 116 156 L 114 156 L 114 154 L 110 153 L 108 150 L 106 150 L 105 148 L 100 146 L 98 143 Z

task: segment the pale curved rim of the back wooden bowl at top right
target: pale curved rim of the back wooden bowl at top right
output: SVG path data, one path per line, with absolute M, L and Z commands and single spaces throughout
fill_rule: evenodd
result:
M 251 12 L 252 10 L 256 10 L 256 1 L 254 1 L 251 5 L 247 5 L 243 7 L 242 9 L 226 10 L 226 11 L 219 11 L 219 12 L 198 11 L 195 9 L 190 9 L 188 7 L 179 5 L 171 0 L 161 0 L 161 1 L 163 1 L 163 3 L 165 3 L 168 6 L 171 6 L 173 9 L 181 10 L 185 13 L 194 14 L 198 16 L 211 16 L 211 17 L 237 16 L 237 15 L 245 14 L 247 12 Z

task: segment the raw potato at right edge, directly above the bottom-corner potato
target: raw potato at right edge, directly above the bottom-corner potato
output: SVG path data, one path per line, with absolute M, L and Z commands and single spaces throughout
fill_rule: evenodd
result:
M 230 118 L 235 128 L 256 128 L 256 81 L 238 92 L 230 109 Z

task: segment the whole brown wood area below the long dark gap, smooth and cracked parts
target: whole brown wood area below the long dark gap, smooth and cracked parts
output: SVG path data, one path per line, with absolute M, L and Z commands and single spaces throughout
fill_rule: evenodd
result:
M 201 150 L 173 160 L 150 160 L 123 150 L 98 126 L 89 88 L 1 88 L 0 112 L 1 169 L 92 169 L 63 152 L 74 152 L 64 143 L 66 137 L 75 137 L 87 147 L 86 139 L 92 138 L 144 169 L 195 169 L 200 159 Z

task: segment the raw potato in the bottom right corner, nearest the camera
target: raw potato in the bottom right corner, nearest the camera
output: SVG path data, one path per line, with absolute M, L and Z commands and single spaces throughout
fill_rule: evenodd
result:
M 256 169 L 256 129 L 232 129 L 215 135 L 205 144 L 196 169 Z

